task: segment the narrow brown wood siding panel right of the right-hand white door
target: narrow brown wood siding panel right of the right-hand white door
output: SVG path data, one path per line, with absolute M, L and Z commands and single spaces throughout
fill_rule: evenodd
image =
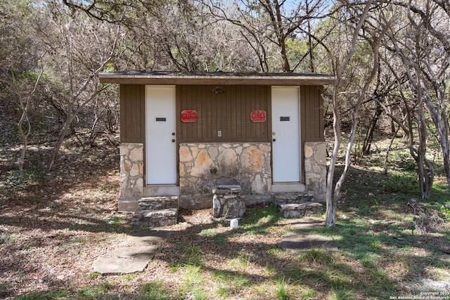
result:
M 300 86 L 302 142 L 324 141 L 321 86 Z

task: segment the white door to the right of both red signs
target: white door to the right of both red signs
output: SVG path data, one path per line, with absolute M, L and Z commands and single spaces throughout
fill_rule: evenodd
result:
M 300 182 L 300 105 L 298 86 L 272 87 L 274 183 Z

